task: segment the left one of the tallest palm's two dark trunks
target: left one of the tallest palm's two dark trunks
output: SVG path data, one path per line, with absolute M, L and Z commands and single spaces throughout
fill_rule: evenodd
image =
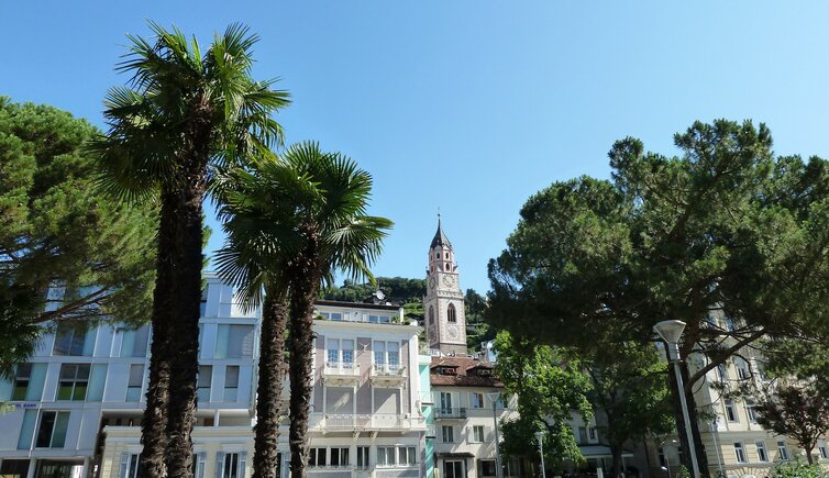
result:
M 176 227 L 176 198 L 168 191 L 162 193 L 158 225 L 153 316 L 153 342 L 150 348 L 150 383 L 146 408 L 141 422 L 141 477 L 165 476 L 164 446 L 167 443 L 167 400 L 169 387 L 169 325 L 173 322 L 173 300 L 176 296 L 174 280 L 174 236 Z

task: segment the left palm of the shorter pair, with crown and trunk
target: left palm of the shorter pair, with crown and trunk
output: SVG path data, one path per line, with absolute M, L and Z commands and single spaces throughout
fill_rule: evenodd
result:
M 288 320 L 286 264 L 296 253 L 297 194 L 318 194 L 316 185 L 276 159 L 250 170 L 236 168 L 214 182 L 225 232 L 217 253 L 219 275 L 237 288 L 247 310 L 262 304 L 253 478 L 276 478 L 280 399 L 286 371 Z M 264 293 L 264 297 L 263 297 Z

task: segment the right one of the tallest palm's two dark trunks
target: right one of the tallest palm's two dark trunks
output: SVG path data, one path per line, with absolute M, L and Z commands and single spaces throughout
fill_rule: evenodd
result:
M 172 351 L 169 402 L 167 407 L 167 474 L 175 478 L 192 477 L 192 425 L 196 421 L 196 376 L 199 367 L 199 305 L 201 302 L 201 268 L 203 267 L 202 200 L 207 189 L 207 147 L 205 138 L 195 135 L 197 149 L 185 164 L 177 214 L 175 337 Z

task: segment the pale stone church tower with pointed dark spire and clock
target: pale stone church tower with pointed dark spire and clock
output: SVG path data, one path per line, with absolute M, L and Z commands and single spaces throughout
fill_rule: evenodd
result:
M 423 298 L 424 325 L 429 348 L 444 354 L 466 354 L 466 312 L 464 294 L 457 277 L 457 264 L 452 243 L 441 227 L 429 246 L 427 289 Z

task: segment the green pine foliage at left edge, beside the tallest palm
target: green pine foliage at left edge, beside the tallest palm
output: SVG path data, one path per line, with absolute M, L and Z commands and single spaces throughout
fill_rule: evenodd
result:
M 96 188 L 84 151 L 96 134 L 65 111 L 0 98 L 0 374 L 44 322 L 150 318 L 156 209 Z

